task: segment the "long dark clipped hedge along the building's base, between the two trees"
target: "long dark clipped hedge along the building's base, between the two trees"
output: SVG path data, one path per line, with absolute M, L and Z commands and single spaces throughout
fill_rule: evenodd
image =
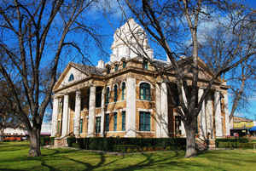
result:
M 98 151 L 185 150 L 184 138 L 67 138 L 67 145 Z

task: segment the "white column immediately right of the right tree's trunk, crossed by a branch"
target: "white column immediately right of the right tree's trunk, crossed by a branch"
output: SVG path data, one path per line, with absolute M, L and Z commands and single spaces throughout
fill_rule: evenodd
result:
M 198 101 L 201 100 L 201 96 L 204 93 L 203 88 L 198 89 Z M 207 121 L 206 121 L 206 106 L 205 106 L 205 100 L 203 100 L 201 105 L 201 111 L 198 115 L 198 121 L 199 121 L 199 134 L 203 138 L 207 138 Z

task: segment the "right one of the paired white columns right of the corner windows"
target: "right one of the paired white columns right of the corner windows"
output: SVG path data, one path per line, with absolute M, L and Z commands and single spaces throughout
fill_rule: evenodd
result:
M 161 83 L 161 137 L 168 137 L 168 93 L 166 83 Z

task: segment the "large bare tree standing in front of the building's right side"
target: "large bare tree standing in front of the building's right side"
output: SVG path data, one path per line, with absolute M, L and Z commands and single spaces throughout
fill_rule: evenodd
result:
M 119 1 L 118 1 L 119 2 Z M 241 12 L 241 6 L 235 3 L 228 3 L 224 0 L 195 0 L 195 1 L 129 1 L 125 0 L 126 5 L 131 9 L 131 16 L 135 17 L 143 28 L 148 32 L 149 36 L 155 43 L 158 43 L 166 52 L 167 57 L 171 61 L 172 71 L 176 76 L 177 92 L 180 105 L 177 112 L 181 116 L 186 131 L 186 155 L 185 157 L 194 157 L 197 154 L 195 150 L 195 132 L 197 128 L 197 117 L 201 111 L 203 101 L 207 98 L 212 84 L 227 71 L 236 68 L 242 61 L 250 59 L 255 55 L 255 49 L 250 51 L 242 58 L 237 58 L 236 49 L 241 48 L 241 43 L 234 45 L 230 51 L 229 58 L 218 56 L 222 60 L 221 65 L 214 67 L 211 79 L 207 80 L 207 88 L 198 100 L 198 81 L 199 81 L 199 35 L 198 27 L 201 22 L 211 19 L 214 14 L 229 14 L 230 11 Z M 119 3 L 120 4 L 120 3 Z M 120 4 L 120 8 L 122 9 Z M 246 13 L 244 10 L 242 13 Z M 125 13 L 125 11 L 124 11 Z M 126 13 L 127 16 L 127 13 Z M 177 28 L 180 26 L 180 28 Z M 183 31 L 187 34 L 191 41 L 191 47 L 184 50 L 181 45 L 188 42 L 184 37 L 176 37 L 178 40 L 173 41 L 172 37 L 179 34 L 171 34 L 172 31 Z M 184 35 L 180 34 L 180 35 Z M 190 63 L 189 75 L 191 75 L 191 83 L 188 83 L 187 73 L 183 70 L 183 66 L 179 65 L 180 55 L 189 56 Z M 143 53 L 144 58 L 147 55 Z M 149 59 L 148 59 L 149 60 Z M 166 68 L 162 68 L 166 71 Z M 169 68 L 170 69 L 170 68 Z M 157 71 L 163 71 L 157 69 Z M 185 94 L 185 95 L 183 95 Z

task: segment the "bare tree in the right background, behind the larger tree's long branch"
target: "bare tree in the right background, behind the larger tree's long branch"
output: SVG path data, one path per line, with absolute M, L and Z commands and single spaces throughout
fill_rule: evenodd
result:
M 249 99 L 255 91 L 256 73 L 256 12 L 249 14 L 232 11 L 225 20 L 218 20 L 218 25 L 211 32 L 203 34 L 199 53 L 207 61 L 212 71 L 218 71 L 225 59 L 230 56 L 242 60 L 240 66 L 225 72 L 223 79 L 229 83 L 232 107 L 230 120 L 237 110 L 246 110 Z M 237 46 L 239 45 L 239 46 Z M 231 54 L 231 55 L 230 55 Z M 247 59 L 247 55 L 253 54 Z

